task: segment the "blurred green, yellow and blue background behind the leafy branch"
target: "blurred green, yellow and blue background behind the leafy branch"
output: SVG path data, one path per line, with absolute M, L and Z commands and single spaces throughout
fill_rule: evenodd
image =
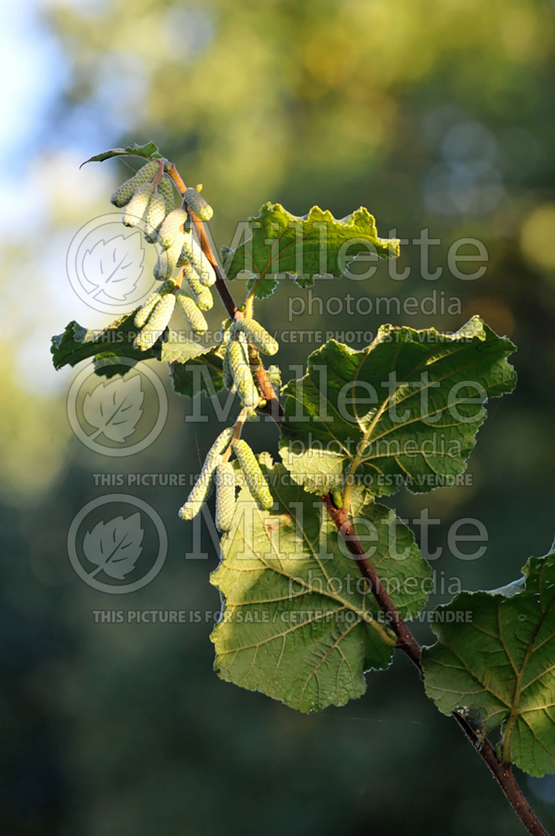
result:
M 387 319 L 454 330 L 481 314 L 517 343 L 517 391 L 490 405 L 472 486 L 390 502 L 402 516 L 429 508 L 440 518 L 430 547 L 444 547 L 434 568 L 446 577 L 467 589 L 515 578 L 555 530 L 555 4 L 22 0 L 0 43 L 1 833 L 521 833 L 405 658 L 370 675 L 363 699 L 302 716 L 217 679 L 211 624 L 94 624 L 98 609 L 218 609 L 209 538 L 209 560 L 184 559 L 184 489 L 114 489 L 149 502 L 167 528 L 165 566 L 145 589 L 90 589 L 66 551 L 74 514 L 109 492 L 92 474 L 190 472 L 216 419 L 205 403 L 211 420 L 186 424 L 191 402 L 170 393 L 154 445 L 130 459 L 96 455 L 69 428 L 74 372 L 53 371 L 48 344 L 69 319 L 89 328 L 109 319 L 75 296 L 65 269 L 75 232 L 111 211 L 126 173 L 119 162 L 79 171 L 104 148 L 155 140 L 187 183 L 204 184 L 220 244 L 267 200 L 297 214 L 318 203 L 336 217 L 368 206 L 382 236 L 411 240 L 429 228 L 440 239 L 431 265 L 444 268 L 435 281 L 420 278 L 409 243 L 404 281 L 382 265 L 366 283 L 323 282 L 318 292 L 443 291 L 461 299 L 460 314 Z M 461 237 L 487 247 L 476 281 L 447 270 Z M 304 292 L 283 285 L 258 306 L 272 330 L 375 332 L 386 319 L 314 309 L 288 322 L 289 293 Z M 286 379 L 309 350 L 283 344 Z M 272 425 L 248 438 L 277 449 Z M 486 526 L 480 560 L 446 550 L 461 517 Z M 427 627 L 418 632 L 431 640 Z M 555 778 L 522 776 L 522 785 L 555 828 Z

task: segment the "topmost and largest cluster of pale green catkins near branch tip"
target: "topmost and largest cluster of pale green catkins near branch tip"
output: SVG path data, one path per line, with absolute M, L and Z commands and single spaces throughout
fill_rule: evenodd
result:
M 150 349 L 160 339 L 176 305 L 191 331 L 199 336 L 204 334 L 208 324 L 202 312 L 213 305 L 209 288 L 216 281 L 211 263 L 189 228 L 189 216 L 183 207 L 190 207 L 202 221 L 209 221 L 211 206 L 196 189 L 188 188 L 183 206 L 176 208 L 171 180 L 163 173 L 159 176 L 160 165 L 147 162 L 110 198 L 115 206 L 125 206 L 125 226 L 135 227 L 144 220 L 146 241 L 158 242 L 162 247 L 154 268 L 155 278 L 162 283 L 135 315 L 135 325 L 140 329 L 135 346 L 141 351 Z M 181 272 L 179 280 L 173 281 L 171 276 L 176 268 L 181 268 Z

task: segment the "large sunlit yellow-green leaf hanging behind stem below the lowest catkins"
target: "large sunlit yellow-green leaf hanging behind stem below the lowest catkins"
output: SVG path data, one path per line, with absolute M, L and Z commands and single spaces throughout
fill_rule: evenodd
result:
M 390 665 L 395 638 L 323 502 L 268 459 L 259 456 L 274 506 L 258 510 L 242 488 L 211 575 L 225 599 L 211 636 L 215 667 L 222 679 L 298 711 L 343 706 L 364 694 L 365 671 Z M 361 492 L 354 499 L 382 582 L 403 614 L 415 614 L 431 573 L 412 532 L 389 508 L 362 507 Z

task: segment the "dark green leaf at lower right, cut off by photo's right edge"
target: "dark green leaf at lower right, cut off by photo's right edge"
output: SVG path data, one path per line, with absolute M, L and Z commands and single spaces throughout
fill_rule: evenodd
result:
M 422 665 L 440 711 L 479 711 L 486 732 L 501 726 L 503 759 L 542 776 L 555 772 L 555 551 L 522 573 L 518 586 L 438 607 Z

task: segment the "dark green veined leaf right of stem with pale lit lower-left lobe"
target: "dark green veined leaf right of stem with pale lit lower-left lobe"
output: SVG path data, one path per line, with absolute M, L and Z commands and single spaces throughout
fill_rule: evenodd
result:
M 515 385 L 514 348 L 479 317 L 456 334 L 383 325 L 362 351 L 331 340 L 283 387 L 283 461 L 318 493 L 342 486 L 345 472 L 375 496 L 452 484 L 486 418 L 482 403 Z

